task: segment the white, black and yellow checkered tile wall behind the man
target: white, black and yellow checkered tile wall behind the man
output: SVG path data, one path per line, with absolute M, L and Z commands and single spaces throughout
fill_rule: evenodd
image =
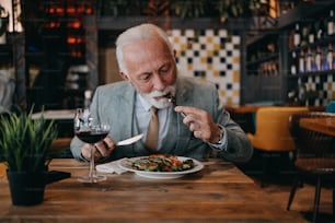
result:
M 171 30 L 177 64 L 186 75 L 215 82 L 223 104 L 240 104 L 239 35 L 227 30 Z

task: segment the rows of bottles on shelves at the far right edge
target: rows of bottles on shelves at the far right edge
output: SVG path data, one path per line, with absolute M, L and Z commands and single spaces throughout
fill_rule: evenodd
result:
M 335 26 L 332 9 L 325 8 L 314 16 L 301 19 L 287 27 L 287 92 L 296 92 L 294 101 L 302 105 L 326 105 L 333 95 L 330 89 L 324 87 L 335 75 Z M 300 30 L 297 30 L 297 24 Z

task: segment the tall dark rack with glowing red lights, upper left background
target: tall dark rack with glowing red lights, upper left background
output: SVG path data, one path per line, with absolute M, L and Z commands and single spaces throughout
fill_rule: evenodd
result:
M 86 63 L 88 38 L 83 23 L 88 15 L 95 13 L 94 2 L 45 0 L 24 3 L 24 12 L 30 15 L 25 22 L 27 106 L 34 104 L 36 110 L 77 106 L 82 102 L 89 74 L 78 74 L 76 87 L 69 87 L 68 73 L 70 68 Z

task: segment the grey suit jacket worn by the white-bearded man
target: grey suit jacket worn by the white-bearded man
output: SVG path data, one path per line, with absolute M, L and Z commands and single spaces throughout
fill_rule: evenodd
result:
M 117 82 L 99 86 L 95 91 L 91 113 L 94 118 L 111 125 L 109 136 L 119 141 L 140 133 L 135 120 L 136 90 L 128 82 Z M 219 103 L 215 84 L 192 78 L 177 79 L 176 103 L 183 106 L 203 108 L 209 113 L 217 124 L 226 127 L 228 150 L 220 152 L 222 157 L 233 162 L 245 162 L 251 159 L 253 149 L 243 130 L 224 110 Z M 188 127 L 183 124 L 178 113 L 172 113 L 170 130 L 162 144 L 160 153 L 187 157 L 205 157 L 210 146 L 193 136 Z M 71 151 L 76 159 L 82 160 L 80 148 L 82 142 L 73 138 Z M 138 141 L 131 145 L 117 146 L 107 160 L 149 155 L 143 143 Z M 106 160 L 106 161 L 107 161 Z

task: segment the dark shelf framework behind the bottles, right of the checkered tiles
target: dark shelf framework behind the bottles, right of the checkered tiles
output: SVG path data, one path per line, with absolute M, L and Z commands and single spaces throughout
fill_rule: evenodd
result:
M 325 104 L 332 96 L 330 90 L 323 89 L 323 83 L 331 82 L 328 75 L 334 75 L 335 70 L 320 71 L 320 72 L 305 72 L 290 74 L 290 63 L 292 62 L 291 54 L 299 51 L 308 51 L 311 47 L 311 51 L 315 54 L 316 46 L 320 46 L 322 54 L 326 54 L 327 45 L 330 43 L 335 46 L 335 36 L 327 36 L 323 39 L 315 39 L 314 44 L 307 44 L 301 47 L 292 47 L 292 31 L 297 22 L 314 22 L 321 21 L 328 16 L 330 9 L 335 9 L 335 1 L 331 0 L 317 0 L 314 3 L 299 3 L 294 9 L 288 11 L 286 14 L 278 17 L 276 30 L 246 32 L 245 38 L 245 77 L 243 79 L 244 101 L 247 102 L 253 98 L 266 97 L 266 99 L 281 99 L 286 101 L 288 92 L 296 90 L 298 84 L 308 84 L 312 89 L 316 89 L 320 97 L 315 99 L 315 103 L 321 105 Z M 267 44 L 274 44 L 275 50 L 268 51 L 266 49 Z M 273 55 L 264 52 L 275 52 Z M 263 63 L 266 67 L 267 62 L 278 60 L 279 75 L 259 75 Z M 299 63 L 297 64 L 299 67 Z M 320 83 L 315 83 L 315 77 L 320 79 Z M 320 78 L 319 78 L 320 77 Z M 256 91 L 251 92 L 247 87 L 250 84 L 256 85 Z M 266 86 L 266 87 L 265 87 Z M 247 90 L 247 91 L 246 91 Z M 272 90 L 272 91 L 269 91 Z

